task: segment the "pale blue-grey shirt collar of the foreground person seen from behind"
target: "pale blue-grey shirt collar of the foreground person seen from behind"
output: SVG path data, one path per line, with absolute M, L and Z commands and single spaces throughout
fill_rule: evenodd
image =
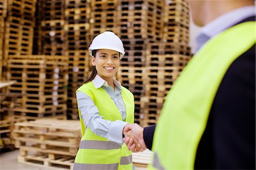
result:
M 213 38 L 213 36 L 220 34 L 222 31 L 232 27 L 234 24 L 239 23 L 241 20 L 254 15 L 255 6 L 252 5 L 229 11 L 228 13 L 214 19 L 212 22 L 205 25 L 201 29 L 199 36 L 197 36 L 196 51 L 198 51 L 209 39 Z

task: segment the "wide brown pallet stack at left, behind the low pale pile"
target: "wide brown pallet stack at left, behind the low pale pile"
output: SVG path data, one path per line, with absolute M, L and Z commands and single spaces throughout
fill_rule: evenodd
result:
M 67 110 L 68 64 L 64 56 L 9 56 L 7 78 L 16 80 L 8 89 L 21 93 L 15 115 L 36 119 L 65 118 Z

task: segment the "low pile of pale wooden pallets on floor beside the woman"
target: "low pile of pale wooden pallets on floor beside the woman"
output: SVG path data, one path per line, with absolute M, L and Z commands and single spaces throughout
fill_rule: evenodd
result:
M 44 153 L 75 156 L 79 148 L 79 121 L 37 119 L 15 124 L 15 147 Z

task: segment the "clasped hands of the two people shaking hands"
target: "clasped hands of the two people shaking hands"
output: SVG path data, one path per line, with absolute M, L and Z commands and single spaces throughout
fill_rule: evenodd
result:
M 143 139 L 143 128 L 137 123 L 125 125 L 123 134 L 125 135 L 123 142 L 130 151 L 143 152 L 146 150 L 147 147 Z

